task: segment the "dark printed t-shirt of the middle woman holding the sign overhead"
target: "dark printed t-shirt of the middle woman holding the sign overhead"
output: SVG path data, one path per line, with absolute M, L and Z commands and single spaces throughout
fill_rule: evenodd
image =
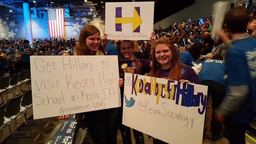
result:
M 141 75 L 150 72 L 150 60 L 139 59 L 141 63 Z M 124 59 L 118 59 L 119 77 L 124 78 L 124 73 L 136 74 L 135 61 L 125 61 Z

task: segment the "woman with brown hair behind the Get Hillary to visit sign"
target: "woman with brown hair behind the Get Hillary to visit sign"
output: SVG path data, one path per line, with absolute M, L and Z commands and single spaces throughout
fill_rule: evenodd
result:
M 102 40 L 107 40 L 106 34 L 104 34 Z M 99 29 L 92 25 L 85 26 L 79 35 L 79 43 L 74 49 L 74 56 L 104 55 Z M 79 113 L 76 114 L 76 119 L 78 123 L 73 142 L 77 129 L 86 126 L 94 144 L 117 144 L 118 108 Z

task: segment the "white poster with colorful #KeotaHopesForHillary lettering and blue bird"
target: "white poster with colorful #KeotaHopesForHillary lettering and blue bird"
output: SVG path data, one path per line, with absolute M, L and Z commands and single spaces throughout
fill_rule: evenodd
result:
M 207 86 L 124 77 L 124 125 L 169 144 L 202 144 Z

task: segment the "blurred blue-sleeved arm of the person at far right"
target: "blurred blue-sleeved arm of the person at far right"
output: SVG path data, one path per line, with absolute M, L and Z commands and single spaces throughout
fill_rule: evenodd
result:
M 246 102 L 251 77 L 247 58 L 242 51 L 231 49 L 226 57 L 228 92 L 217 112 L 224 117 L 229 117 L 241 109 Z

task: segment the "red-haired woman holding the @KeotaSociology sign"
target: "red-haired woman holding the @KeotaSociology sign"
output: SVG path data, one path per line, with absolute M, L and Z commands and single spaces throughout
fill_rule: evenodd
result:
M 171 38 L 160 38 L 155 41 L 153 34 L 151 41 L 154 43 L 152 50 L 153 66 L 148 76 L 176 80 L 182 83 L 200 84 L 197 73 L 191 67 L 180 63 L 179 54 L 175 50 Z M 153 139 L 153 144 L 167 143 Z

